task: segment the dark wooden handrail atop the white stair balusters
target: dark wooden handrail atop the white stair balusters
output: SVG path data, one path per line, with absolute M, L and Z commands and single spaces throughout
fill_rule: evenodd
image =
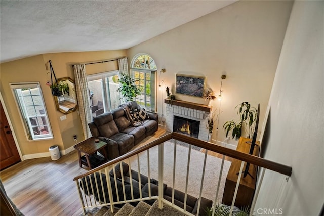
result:
M 172 132 L 170 134 L 167 134 L 163 137 L 160 137 L 158 138 L 157 140 L 154 140 L 144 146 L 141 146 L 137 149 L 134 149 L 133 151 L 130 151 L 120 157 L 117 157 L 105 164 L 102 164 L 101 166 L 98 166 L 97 168 L 94 168 L 94 169 L 91 169 L 90 171 L 86 172 L 85 174 L 82 174 L 82 175 L 79 175 L 77 177 L 74 177 L 74 181 L 77 180 L 77 179 L 80 179 L 80 178 L 83 178 L 83 177 L 86 177 L 90 174 L 93 174 L 94 172 L 96 171 L 99 171 L 103 168 L 106 168 L 108 166 L 111 166 L 117 162 L 120 162 L 122 160 L 125 160 L 131 156 L 134 156 L 136 154 L 139 154 L 147 149 L 150 149 L 158 144 L 161 144 L 163 142 L 166 142 L 170 139 L 176 139 L 176 140 L 179 140 L 179 141 L 183 141 L 183 142 L 186 142 L 186 143 L 189 143 L 191 145 L 194 145 L 194 146 L 197 146 L 197 147 L 200 147 L 200 148 L 204 148 L 204 149 L 207 149 L 209 151 L 213 151 L 213 152 L 217 152 L 217 153 L 220 153 L 220 154 L 223 154 L 223 155 L 226 155 L 226 156 L 229 156 L 229 157 L 232 157 L 234 159 L 238 159 L 238 160 L 242 160 L 242 161 L 246 161 L 246 162 L 249 162 L 249 163 L 252 163 L 252 164 L 255 164 L 255 165 L 258 165 L 258 166 L 261 166 L 261 167 L 264 167 L 266 169 L 270 169 L 270 170 L 273 170 L 273 171 L 276 171 L 276 172 L 279 172 L 280 174 L 284 174 L 284 175 L 287 175 L 287 176 L 291 176 L 292 175 L 292 167 L 291 166 L 287 166 L 287 165 L 283 165 L 283 164 L 280 164 L 280 163 L 276 163 L 276 162 L 273 162 L 273 161 L 270 161 L 270 160 L 266 160 L 264 158 L 261 158 L 261 157 L 257 157 L 257 156 L 254 156 L 254 155 L 250 155 L 250 154 L 247 154 L 247 153 L 243 153 L 243 152 L 239 152 L 239 151 L 236 151 L 236 150 L 233 150 L 233 149 L 229 149 L 229 148 L 226 148 L 226 147 L 223 147 L 223 146 L 219 146 L 219 145 L 216 145 L 216 144 L 213 144 L 213 143 L 209 143 L 209 142 L 206 142 L 206 141 L 203 141 L 203 140 L 199 140 L 199 139 L 196 139 L 196 138 L 192 138 L 192 137 L 189 137 L 189 136 L 186 136 L 186 135 L 182 135 L 182 134 L 179 134 L 179 133 L 176 133 L 176 132 Z

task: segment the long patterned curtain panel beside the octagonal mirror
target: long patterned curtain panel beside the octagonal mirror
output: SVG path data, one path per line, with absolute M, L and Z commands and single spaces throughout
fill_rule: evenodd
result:
M 74 78 L 83 134 L 85 139 L 88 139 L 91 137 L 88 123 L 92 121 L 92 113 L 90 112 L 90 96 L 86 75 L 86 65 L 74 65 Z

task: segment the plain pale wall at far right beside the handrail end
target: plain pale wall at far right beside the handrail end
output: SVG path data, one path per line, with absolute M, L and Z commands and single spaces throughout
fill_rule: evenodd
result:
M 255 212 L 320 215 L 324 203 L 324 2 L 296 1 L 267 108 L 265 158 L 293 168 L 266 171 Z M 273 180 L 276 181 L 273 181 Z

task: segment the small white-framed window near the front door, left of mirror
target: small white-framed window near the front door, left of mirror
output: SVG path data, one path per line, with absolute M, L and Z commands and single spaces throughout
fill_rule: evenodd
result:
M 28 140 L 52 139 L 39 82 L 10 83 Z

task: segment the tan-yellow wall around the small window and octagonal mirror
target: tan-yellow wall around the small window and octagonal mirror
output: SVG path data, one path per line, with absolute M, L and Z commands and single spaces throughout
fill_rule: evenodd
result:
M 77 111 L 66 114 L 67 119 L 60 121 L 60 117 L 64 114 L 56 110 L 55 101 L 51 94 L 51 90 L 48 85 L 46 85 L 47 81 L 51 81 L 51 74 L 49 73 L 50 69 L 48 63 L 49 60 L 52 61 L 52 66 L 57 78 L 69 76 L 74 80 L 74 73 L 72 68 L 73 64 L 115 59 L 119 57 L 125 57 L 126 54 L 126 50 L 51 53 L 1 64 L 0 91 L 3 96 L 5 106 L 8 110 L 13 129 L 17 136 L 17 141 L 19 143 L 22 155 L 35 155 L 35 157 L 37 157 L 37 153 L 48 153 L 48 148 L 51 145 L 58 145 L 60 150 L 65 150 L 75 144 L 75 142 L 73 141 L 73 135 L 77 135 L 78 141 L 84 139 L 82 127 L 80 125 L 80 118 Z M 117 69 L 117 61 L 86 66 L 87 74 L 94 74 Z M 54 139 L 42 141 L 27 141 L 23 125 L 19 117 L 18 108 L 13 98 L 9 83 L 28 81 L 39 81 L 41 83 L 45 106 L 49 115 Z M 38 154 L 38 156 L 42 156 L 42 154 Z

